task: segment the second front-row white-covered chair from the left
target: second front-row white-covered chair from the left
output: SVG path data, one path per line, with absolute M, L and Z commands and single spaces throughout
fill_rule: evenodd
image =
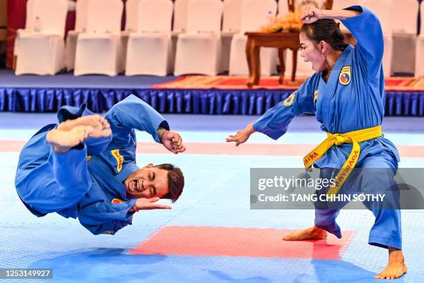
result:
M 123 71 L 121 45 L 121 0 L 90 0 L 87 32 L 77 41 L 75 76 L 105 74 L 116 76 Z

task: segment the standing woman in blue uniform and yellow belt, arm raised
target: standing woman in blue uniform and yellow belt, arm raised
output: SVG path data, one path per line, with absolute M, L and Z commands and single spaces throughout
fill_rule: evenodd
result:
M 376 15 L 362 6 L 345 10 L 319 10 L 304 6 L 301 19 L 305 22 L 299 36 L 301 56 L 312 62 L 315 74 L 285 101 L 267 110 L 255 123 L 247 125 L 236 135 L 227 137 L 236 146 L 244 143 L 254 132 L 278 139 L 288 129 L 290 121 L 301 114 L 315 114 L 328 138 L 306 155 L 306 168 L 341 169 L 333 194 L 342 187 L 350 168 L 398 168 L 396 146 L 382 136 L 380 124 L 384 116 L 385 78 L 382 71 L 383 35 Z M 334 19 L 351 31 L 357 44 L 344 43 L 344 35 Z M 361 179 L 362 180 L 362 179 Z M 362 180 L 362 190 L 390 187 L 393 176 Z M 347 183 L 346 183 L 347 184 Z M 330 191 L 329 191 L 330 192 Z M 378 279 L 395 279 L 407 271 L 402 252 L 399 209 L 379 209 L 368 205 L 376 217 L 369 233 L 369 244 L 387 248 L 389 263 L 376 275 Z M 398 207 L 397 207 L 398 208 Z M 339 209 L 315 209 L 315 225 L 293 232 L 286 241 L 325 239 L 327 232 L 342 237 L 335 219 Z

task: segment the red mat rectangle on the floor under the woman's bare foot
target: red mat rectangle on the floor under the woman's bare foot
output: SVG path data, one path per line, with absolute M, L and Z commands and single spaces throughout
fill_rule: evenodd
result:
M 324 240 L 283 241 L 283 236 L 290 232 L 270 228 L 166 226 L 130 250 L 130 254 L 342 259 L 354 235 L 345 231 L 342 239 L 328 235 Z

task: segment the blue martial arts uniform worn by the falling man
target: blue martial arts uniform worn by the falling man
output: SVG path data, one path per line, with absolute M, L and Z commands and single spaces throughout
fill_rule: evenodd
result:
M 58 119 L 62 122 L 89 114 L 93 113 L 85 105 L 65 106 Z M 15 186 L 30 212 L 78 218 L 93 234 L 114 234 L 132 223 L 129 210 L 136 200 L 127 197 L 123 181 L 139 170 L 134 129 L 150 133 L 160 143 L 157 129 L 169 130 L 168 122 L 134 95 L 116 103 L 105 119 L 112 137 L 89 138 L 67 153 L 55 153 L 46 141 L 55 124 L 42 128 L 28 141 L 19 156 Z

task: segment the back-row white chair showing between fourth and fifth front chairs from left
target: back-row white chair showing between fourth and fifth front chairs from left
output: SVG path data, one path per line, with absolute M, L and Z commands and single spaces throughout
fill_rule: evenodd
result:
M 224 71 L 229 69 L 229 55 L 233 35 L 240 33 L 242 2 L 243 0 L 224 0 L 221 33 L 221 65 Z

